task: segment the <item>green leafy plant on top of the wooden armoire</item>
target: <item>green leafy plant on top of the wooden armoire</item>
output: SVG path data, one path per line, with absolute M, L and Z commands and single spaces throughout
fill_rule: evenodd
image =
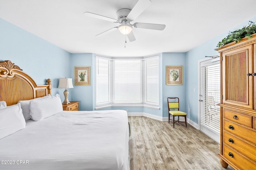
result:
M 244 26 L 241 29 L 237 29 L 235 31 L 229 32 L 228 36 L 226 36 L 222 41 L 220 41 L 217 47 L 222 47 L 228 43 L 232 42 L 240 42 L 242 38 L 248 37 L 248 39 L 252 38 L 252 34 L 256 33 L 256 23 L 249 21 L 248 26 Z

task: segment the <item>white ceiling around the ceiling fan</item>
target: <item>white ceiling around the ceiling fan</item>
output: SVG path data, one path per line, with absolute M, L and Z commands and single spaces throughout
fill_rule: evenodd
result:
M 92 12 L 117 19 L 119 9 L 132 9 L 136 2 L 0 0 L 0 17 L 70 53 L 132 57 L 189 51 L 256 15 L 255 0 L 151 0 L 134 22 L 165 24 L 166 28 L 134 28 L 136 41 L 127 39 L 126 47 L 125 35 L 118 30 L 95 37 L 118 23 L 83 15 Z

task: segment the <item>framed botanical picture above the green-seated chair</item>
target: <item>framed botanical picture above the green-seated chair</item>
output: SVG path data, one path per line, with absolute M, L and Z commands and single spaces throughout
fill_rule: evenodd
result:
M 166 66 L 166 85 L 181 85 L 182 78 L 182 66 Z

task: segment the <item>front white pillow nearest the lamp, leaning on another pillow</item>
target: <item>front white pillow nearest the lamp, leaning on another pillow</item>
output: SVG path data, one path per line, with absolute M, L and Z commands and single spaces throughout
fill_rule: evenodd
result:
M 63 107 L 59 94 L 30 102 L 30 117 L 34 121 L 42 120 L 60 111 L 63 111 Z

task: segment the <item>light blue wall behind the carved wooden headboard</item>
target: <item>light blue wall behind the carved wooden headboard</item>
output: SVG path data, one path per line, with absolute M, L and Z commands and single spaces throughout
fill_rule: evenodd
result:
M 71 75 L 70 53 L 0 18 L 0 61 L 5 60 L 20 66 L 38 85 L 50 78 L 52 94 L 64 100 L 58 79 Z

